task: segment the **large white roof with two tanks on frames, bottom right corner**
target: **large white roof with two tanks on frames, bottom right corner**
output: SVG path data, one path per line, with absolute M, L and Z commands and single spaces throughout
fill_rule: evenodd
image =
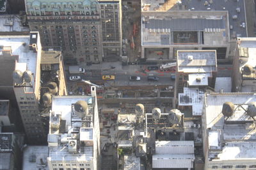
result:
M 202 121 L 206 122 L 204 128 L 209 132 L 209 159 L 256 158 L 256 147 L 251 146 L 256 142 L 255 125 L 244 111 L 247 104 L 255 100 L 255 94 L 250 93 L 205 94 L 205 120 Z M 222 107 L 227 101 L 240 105 L 235 105 L 234 114 L 224 120 Z

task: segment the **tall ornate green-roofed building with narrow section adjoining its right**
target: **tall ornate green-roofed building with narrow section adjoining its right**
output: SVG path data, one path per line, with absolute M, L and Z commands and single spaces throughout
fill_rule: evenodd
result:
M 31 31 L 43 46 L 60 46 L 65 60 L 100 62 L 120 57 L 120 0 L 26 0 Z

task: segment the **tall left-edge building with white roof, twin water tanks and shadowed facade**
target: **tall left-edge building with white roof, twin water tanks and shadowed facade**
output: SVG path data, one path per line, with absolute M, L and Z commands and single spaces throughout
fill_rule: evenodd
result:
M 40 99 L 41 44 L 38 32 L 27 36 L 0 36 L 0 66 L 6 68 L 5 77 L 14 90 L 22 123 L 29 143 L 42 143 L 46 138 L 38 113 Z M 12 78 L 13 77 L 13 78 Z

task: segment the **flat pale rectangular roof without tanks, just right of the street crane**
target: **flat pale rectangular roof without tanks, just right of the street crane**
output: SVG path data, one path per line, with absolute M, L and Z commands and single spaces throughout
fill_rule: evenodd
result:
M 177 71 L 184 73 L 211 73 L 217 71 L 215 50 L 179 50 Z M 211 74 L 209 76 L 212 76 Z

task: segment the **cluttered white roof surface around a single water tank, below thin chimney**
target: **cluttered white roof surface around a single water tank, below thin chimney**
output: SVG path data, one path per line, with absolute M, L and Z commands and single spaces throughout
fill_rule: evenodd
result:
M 86 101 L 88 114 L 80 118 L 77 101 Z M 48 134 L 49 160 L 92 160 L 94 103 L 92 96 L 53 96 Z M 56 124 L 57 127 L 56 127 Z

